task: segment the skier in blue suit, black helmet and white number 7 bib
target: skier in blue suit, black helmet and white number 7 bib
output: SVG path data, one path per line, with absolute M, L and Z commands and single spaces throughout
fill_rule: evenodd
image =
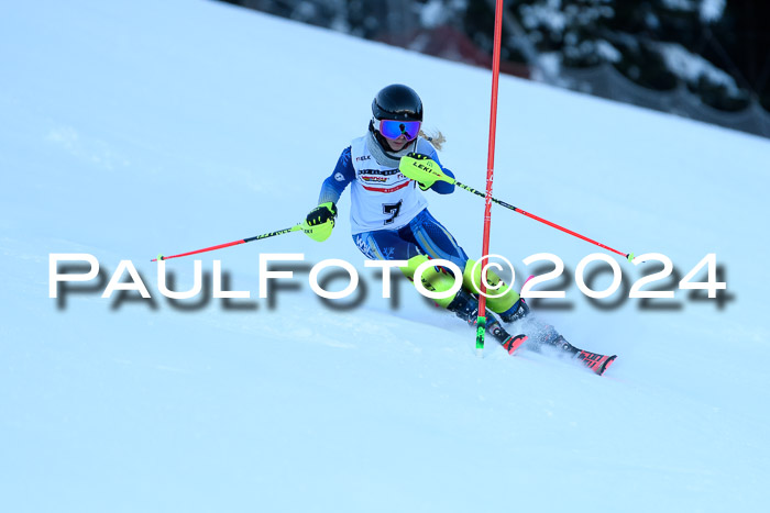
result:
M 329 237 L 337 218 L 337 201 L 351 185 L 350 220 L 359 249 L 371 259 L 407 260 L 400 269 L 413 281 L 417 267 L 430 258 L 452 261 L 462 271 L 462 288 L 436 302 L 473 325 L 479 315 L 474 293 L 481 290 L 481 271 L 473 272 L 475 261 L 433 219 L 420 192 L 454 191 L 453 183 L 441 179 L 448 177 L 451 181 L 454 175 L 439 161 L 431 140 L 420 131 L 421 123 L 422 101 L 413 89 L 396 83 L 377 92 L 372 101 L 369 131 L 342 150 L 334 170 L 321 186 L 318 207 L 307 215 L 306 223 L 312 230 L 306 233 L 319 242 Z M 454 277 L 429 266 L 421 282 L 428 290 L 446 292 L 454 285 Z M 487 283 L 496 289 L 497 297 L 487 298 L 491 312 L 486 313 L 486 331 L 509 353 L 527 336 L 510 336 L 501 320 L 510 323 L 526 317 L 530 347 L 535 350 L 543 344 L 556 347 L 579 357 L 600 375 L 615 358 L 582 352 L 552 326 L 528 315 L 529 306 L 492 270 L 487 271 Z

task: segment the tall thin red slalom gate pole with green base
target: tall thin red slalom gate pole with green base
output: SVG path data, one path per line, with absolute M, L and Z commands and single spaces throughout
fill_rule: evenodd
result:
M 503 36 L 503 0 L 495 2 L 495 46 L 492 54 L 492 105 L 490 108 L 490 148 L 486 159 L 486 198 L 484 207 L 484 238 L 482 243 L 482 261 L 490 254 L 490 225 L 492 224 L 492 181 L 495 176 L 495 136 L 497 130 L 497 83 L 501 73 L 501 40 Z M 484 332 L 486 331 L 486 286 L 484 285 L 484 266 L 481 266 L 481 294 L 479 295 L 479 319 L 476 328 L 476 355 L 484 350 Z

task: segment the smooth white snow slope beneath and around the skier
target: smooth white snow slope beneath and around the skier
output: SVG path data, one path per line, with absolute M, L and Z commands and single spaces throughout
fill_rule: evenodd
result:
M 150 258 L 301 220 L 387 83 L 422 96 L 442 161 L 484 187 L 488 71 L 218 2 L 1 12 L 0 511 L 763 511 L 770 142 L 501 79 L 495 196 L 662 253 L 680 277 L 708 253 L 724 266 L 723 309 L 684 291 L 601 309 L 573 279 L 598 248 L 495 208 L 492 250 L 519 275 L 536 253 L 564 260 L 566 299 L 540 314 L 618 354 L 605 378 L 494 346 L 477 358 L 472 331 L 408 283 L 381 298 L 348 192 L 323 244 L 201 255 L 251 299 L 209 290 L 183 309 Z M 483 201 L 429 201 L 477 256 Z M 50 299 L 52 253 L 92 254 L 103 281 Z M 367 293 L 330 308 L 296 268 L 271 304 L 270 253 L 346 259 Z M 194 259 L 166 264 L 176 288 Z M 121 260 L 152 300 L 100 297 Z

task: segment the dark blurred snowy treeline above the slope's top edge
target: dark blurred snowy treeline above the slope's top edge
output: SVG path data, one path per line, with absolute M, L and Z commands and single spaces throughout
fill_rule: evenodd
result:
M 495 0 L 226 1 L 476 64 L 492 53 Z M 507 64 L 609 63 L 653 90 L 683 83 L 719 110 L 770 110 L 767 0 L 508 0 L 505 14 Z

